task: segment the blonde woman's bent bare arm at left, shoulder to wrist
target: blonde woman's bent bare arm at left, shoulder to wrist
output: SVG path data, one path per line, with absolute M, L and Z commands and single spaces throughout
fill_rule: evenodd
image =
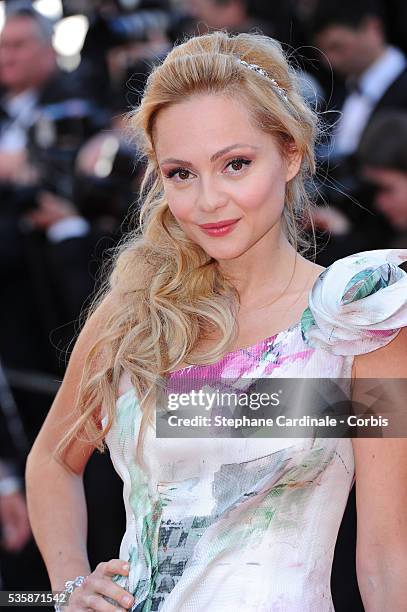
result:
M 95 332 L 106 316 L 110 299 L 99 306 L 83 327 L 73 348 L 63 382 L 28 455 L 26 497 L 31 529 L 44 559 L 52 589 L 89 574 L 87 510 L 83 472 L 94 447 L 75 440 L 63 461 L 52 455 L 66 428 L 79 416 L 72 398 Z

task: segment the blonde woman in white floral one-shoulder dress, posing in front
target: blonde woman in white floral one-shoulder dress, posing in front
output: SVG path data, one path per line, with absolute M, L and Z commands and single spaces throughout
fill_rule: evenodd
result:
M 407 250 L 326 269 L 304 256 L 318 122 L 271 38 L 185 40 L 129 119 L 148 161 L 141 228 L 112 261 L 27 463 L 52 588 L 71 592 L 66 612 L 332 611 L 356 477 L 363 602 L 401 612 L 403 439 L 159 437 L 153 414 L 163 380 L 407 377 Z M 82 476 L 104 441 L 127 528 L 118 558 L 91 571 Z

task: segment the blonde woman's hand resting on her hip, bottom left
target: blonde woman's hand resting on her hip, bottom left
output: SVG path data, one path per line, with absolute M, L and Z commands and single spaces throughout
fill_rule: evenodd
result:
M 112 580 L 115 574 L 128 575 L 129 570 L 125 569 L 125 566 L 126 563 L 122 559 L 110 559 L 99 563 L 84 582 L 73 590 L 68 605 L 64 606 L 65 612 L 88 612 L 89 609 L 97 612 L 113 612 L 118 607 L 130 608 L 134 603 L 134 597 Z M 105 597 L 113 599 L 117 602 L 116 605 L 109 603 Z

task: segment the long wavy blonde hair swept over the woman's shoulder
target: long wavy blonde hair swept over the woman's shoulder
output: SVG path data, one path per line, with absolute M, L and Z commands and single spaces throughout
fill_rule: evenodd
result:
M 249 70 L 239 58 L 266 70 L 286 90 L 287 99 L 271 79 Z M 286 186 L 283 227 L 298 252 L 310 247 L 303 228 L 312 205 L 306 180 L 315 172 L 318 118 L 304 101 L 280 43 L 261 33 L 233 35 L 223 30 L 187 38 L 152 68 L 139 106 L 126 114 L 128 130 L 146 161 L 137 203 L 139 223 L 116 247 L 85 313 L 87 320 L 106 297 L 114 296 L 115 308 L 86 357 L 76 400 L 80 417 L 60 440 L 57 453 L 82 430 L 82 439 L 104 452 L 119 379 L 127 372 L 143 412 L 136 452 L 143 462 L 142 440 L 166 374 L 183 363 L 221 359 L 236 338 L 239 295 L 216 260 L 186 236 L 172 215 L 154 150 L 160 110 L 197 93 L 239 100 L 253 125 L 273 135 L 282 151 L 291 144 L 302 155 L 300 172 Z M 197 342 L 212 332 L 221 340 L 203 355 Z M 98 423 L 102 402 L 107 415 L 103 430 Z

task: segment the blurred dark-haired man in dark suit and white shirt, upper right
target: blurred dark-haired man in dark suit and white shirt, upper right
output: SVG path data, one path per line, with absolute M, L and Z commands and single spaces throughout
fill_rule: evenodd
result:
M 326 177 L 319 193 L 331 216 L 342 215 L 347 222 L 342 225 L 348 226 L 337 235 L 325 210 L 315 215 L 324 234 L 318 263 L 329 265 L 350 253 L 386 248 L 393 238 L 393 228 L 374 208 L 371 188 L 358 174 L 357 150 L 377 113 L 407 109 L 407 58 L 389 44 L 378 0 L 317 0 L 309 29 L 334 73 L 324 115 L 330 127 L 317 146 L 319 176 Z

